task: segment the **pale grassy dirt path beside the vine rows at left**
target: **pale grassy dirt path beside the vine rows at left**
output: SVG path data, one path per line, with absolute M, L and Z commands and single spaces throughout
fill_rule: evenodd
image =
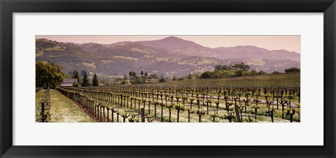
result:
M 50 89 L 50 96 L 52 104 L 50 122 L 96 122 L 57 90 Z

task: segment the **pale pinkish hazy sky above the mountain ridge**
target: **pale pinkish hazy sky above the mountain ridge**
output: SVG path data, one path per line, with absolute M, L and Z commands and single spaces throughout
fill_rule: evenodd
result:
M 169 35 L 175 36 L 175 35 Z M 111 44 L 120 41 L 152 41 L 169 36 L 36 36 L 52 41 L 72 43 Z M 301 36 L 176 36 L 187 41 L 193 41 L 209 48 L 232 47 L 237 45 L 254 45 L 267 50 L 289 50 L 301 52 Z

